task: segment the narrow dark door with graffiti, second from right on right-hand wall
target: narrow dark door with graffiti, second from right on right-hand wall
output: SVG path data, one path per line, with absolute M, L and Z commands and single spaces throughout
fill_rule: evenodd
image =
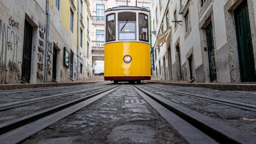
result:
M 217 69 L 216 69 L 215 51 L 214 51 L 214 45 L 213 45 L 212 23 L 210 23 L 206 27 L 206 37 L 207 37 L 207 46 L 208 46 L 210 79 L 211 79 L 211 82 L 213 82 L 217 79 Z

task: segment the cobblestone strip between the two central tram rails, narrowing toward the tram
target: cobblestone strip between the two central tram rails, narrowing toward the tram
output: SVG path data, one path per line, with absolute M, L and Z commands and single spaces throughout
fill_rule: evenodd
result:
M 122 85 L 23 143 L 186 143 L 156 110 L 141 100 L 131 85 Z

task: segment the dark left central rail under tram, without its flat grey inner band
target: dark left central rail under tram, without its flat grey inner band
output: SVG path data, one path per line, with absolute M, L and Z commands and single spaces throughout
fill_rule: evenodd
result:
M 121 84 L 122 85 L 122 84 Z M 109 92 L 112 92 L 113 90 L 117 89 L 118 87 L 120 87 L 121 85 L 116 85 L 114 87 L 111 87 L 109 89 L 106 89 L 106 90 L 103 90 L 103 91 L 100 91 L 100 92 L 96 92 L 96 93 L 93 93 L 91 95 L 87 95 L 87 96 L 84 96 L 82 98 L 79 98 L 79 99 L 76 99 L 76 100 L 72 100 L 72 101 L 69 101 L 69 102 L 66 102 L 66 103 L 63 103 L 63 104 L 60 104 L 60 105 L 57 105 L 57 106 L 54 106 L 52 108 L 47 108 L 47 109 L 44 109 L 42 111 L 39 111 L 39 112 L 35 112 L 35 113 L 32 113 L 32 114 L 29 114 L 27 116 L 22 116 L 22 117 L 19 117 L 17 119 L 13 119 L 11 121 L 8 121 L 8 122 L 5 122 L 5 123 L 2 123 L 0 124 L 0 141 L 1 140 L 4 140 L 3 138 L 6 136 L 4 135 L 4 133 L 6 132 L 9 132 L 11 130 L 15 131 L 16 129 L 15 128 L 18 128 L 18 127 L 21 127 L 25 124 L 28 124 L 28 123 L 31 123 L 33 121 L 36 121 L 40 118 L 43 118 L 45 116 L 49 116 L 51 114 L 54 114 L 56 112 L 59 112 L 65 108 L 69 108 L 69 107 L 72 107 L 76 104 L 79 104 L 83 101 L 86 101 L 88 99 L 91 99 L 95 96 L 99 96 L 99 95 L 106 95 L 104 93 L 109 93 Z M 102 97 L 102 96 L 101 96 Z M 99 98 L 98 98 L 99 99 Z M 72 109 L 72 108 L 71 108 Z M 78 109 L 79 110 L 79 109 Z M 76 110 L 77 111 L 77 110 Z M 72 114 L 72 113 L 71 113 Z M 68 116 L 68 115 L 67 115 Z M 51 117 L 51 116 L 50 116 Z M 46 122 L 47 123 L 47 122 Z M 43 123 L 40 123 L 40 124 L 43 124 Z M 36 128 L 36 127 L 35 127 Z M 21 128 L 22 129 L 22 128 Z M 28 132 L 27 129 L 22 129 L 23 131 L 26 131 Z M 33 131 L 33 130 L 31 130 Z M 12 136 L 13 137 L 13 136 Z M 6 137 L 5 137 L 6 138 Z

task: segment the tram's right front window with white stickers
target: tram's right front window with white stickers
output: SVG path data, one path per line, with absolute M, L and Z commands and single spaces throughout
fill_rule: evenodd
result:
M 148 15 L 139 13 L 139 40 L 148 42 Z

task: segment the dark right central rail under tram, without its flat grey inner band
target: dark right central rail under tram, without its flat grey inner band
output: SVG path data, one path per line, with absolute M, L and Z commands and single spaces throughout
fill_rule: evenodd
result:
M 212 137 L 217 142 L 255 144 L 256 136 L 254 135 L 242 132 L 241 130 L 225 124 L 224 122 L 218 121 L 192 109 L 176 104 L 170 100 L 164 99 L 163 97 L 152 92 L 148 92 L 139 86 L 134 86 L 165 108 L 192 124 L 200 131 Z

